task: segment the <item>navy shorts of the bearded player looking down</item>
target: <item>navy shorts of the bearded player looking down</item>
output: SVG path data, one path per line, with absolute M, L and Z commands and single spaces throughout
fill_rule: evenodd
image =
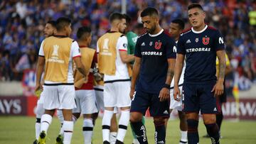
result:
M 159 94 L 150 94 L 146 92 L 137 91 L 132 99 L 131 112 L 139 112 L 145 115 L 149 108 L 152 117 L 169 118 L 170 100 L 159 101 Z

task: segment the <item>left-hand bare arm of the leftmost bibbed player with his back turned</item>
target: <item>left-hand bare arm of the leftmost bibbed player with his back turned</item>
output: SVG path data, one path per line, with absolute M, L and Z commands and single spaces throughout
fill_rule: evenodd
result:
M 38 89 L 43 89 L 43 87 L 41 86 L 41 77 L 43 74 L 44 65 L 45 65 L 45 57 L 39 56 L 38 63 L 36 66 L 36 89 L 35 89 L 35 91 L 37 91 Z

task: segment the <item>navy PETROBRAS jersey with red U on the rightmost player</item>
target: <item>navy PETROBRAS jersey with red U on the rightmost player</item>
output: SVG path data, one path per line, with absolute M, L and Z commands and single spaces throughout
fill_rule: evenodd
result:
M 193 28 L 181 33 L 177 53 L 186 55 L 185 82 L 215 81 L 216 51 L 224 50 L 223 36 L 210 26 L 202 31 Z

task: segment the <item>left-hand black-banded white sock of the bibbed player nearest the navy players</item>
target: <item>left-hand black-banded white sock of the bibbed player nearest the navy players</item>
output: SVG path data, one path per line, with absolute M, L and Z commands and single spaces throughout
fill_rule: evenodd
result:
M 103 141 L 107 140 L 110 142 L 110 122 L 113 116 L 114 111 L 104 111 L 102 118 L 102 138 Z

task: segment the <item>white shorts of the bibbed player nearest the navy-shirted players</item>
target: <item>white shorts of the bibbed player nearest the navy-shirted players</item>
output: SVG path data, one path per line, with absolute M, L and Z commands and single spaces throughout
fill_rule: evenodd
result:
M 127 107 L 131 106 L 129 92 L 130 81 L 112 82 L 104 84 L 104 106 L 105 107 Z

